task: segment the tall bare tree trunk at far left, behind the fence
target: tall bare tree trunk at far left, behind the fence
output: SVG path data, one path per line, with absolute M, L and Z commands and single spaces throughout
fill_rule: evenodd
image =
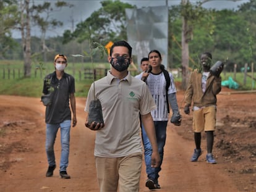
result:
M 31 50 L 30 50 L 30 12 L 29 12 L 30 0 L 25 0 L 26 10 L 26 34 L 25 34 L 25 46 L 23 47 L 24 56 L 24 77 L 30 77 L 31 75 Z

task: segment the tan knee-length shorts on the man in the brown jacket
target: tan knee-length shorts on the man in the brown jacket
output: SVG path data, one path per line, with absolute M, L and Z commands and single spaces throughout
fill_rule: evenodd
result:
M 216 107 L 202 107 L 193 111 L 193 131 L 214 131 L 216 125 Z

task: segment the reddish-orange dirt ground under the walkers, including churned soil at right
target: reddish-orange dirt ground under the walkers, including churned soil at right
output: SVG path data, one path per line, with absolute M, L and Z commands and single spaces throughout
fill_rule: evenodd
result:
M 181 107 L 182 125 L 168 123 L 168 136 L 160 172 L 161 192 L 256 191 L 256 93 L 218 94 L 217 124 L 213 154 L 218 164 L 205 162 L 203 155 L 190 162 L 194 150 L 192 114 Z M 177 93 L 182 106 L 184 92 Z M 85 128 L 85 98 L 76 98 L 77 126 L 72 128 L 67 172 L 70 180 L 59 178 L 58 169 L 46 178 L 45 106 L 40 98 L 0 96 L 0 191 L 99 191 L 93 157 L 95 132 Z M 55 144 L 59 163 L 59 134 Z M 58 165 L 57 165 L 58 166 Z M 145 187 L 142 167 L 140 191 Z

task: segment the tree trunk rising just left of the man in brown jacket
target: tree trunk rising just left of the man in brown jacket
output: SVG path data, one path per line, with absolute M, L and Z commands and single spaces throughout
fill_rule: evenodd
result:
M 182 0 L 182 5 L 186 5 L 187 0 Z M 189 83 L 189 41 L 188 41 L 188 25 L 185 17 L 182 18 L 182 34 L 181 34 L 181 62 L 182 62 L 182 90 L 186 90 Z

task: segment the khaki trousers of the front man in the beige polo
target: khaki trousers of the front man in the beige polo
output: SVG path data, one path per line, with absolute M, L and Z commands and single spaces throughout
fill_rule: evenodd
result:
M 100 192 L 138 192 L 142 170 L 142 152 L 126 157 L 95 157 Z

